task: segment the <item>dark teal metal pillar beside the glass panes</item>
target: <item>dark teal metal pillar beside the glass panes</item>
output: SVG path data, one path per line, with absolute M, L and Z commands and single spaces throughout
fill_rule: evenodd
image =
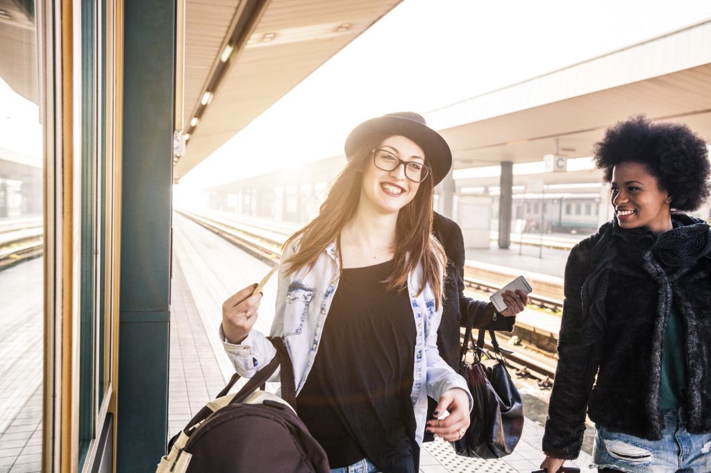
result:
M 117 471 L 135 473 L 167 440 L 176 2 L 123 4 Z

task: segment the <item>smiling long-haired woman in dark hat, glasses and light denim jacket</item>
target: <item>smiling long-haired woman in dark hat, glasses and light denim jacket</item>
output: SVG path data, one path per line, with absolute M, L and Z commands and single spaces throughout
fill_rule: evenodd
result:
M 424 429 L 456 440 L 472 405 L 436 345 L 447 257 L 432 236 L 432 202 L 451 151 L 412 112 L 363 122 L 345 150 L 319 215 L 284 245 L 271 332 L 284 338 L 297 411 L 332 469 L 417 472 Z M 225 301 L 220 330 L 248 377 L 274 356 L 252 330 L 261 298 L 252 290 Z M 438 400 L 429 420 L 428 395 Z

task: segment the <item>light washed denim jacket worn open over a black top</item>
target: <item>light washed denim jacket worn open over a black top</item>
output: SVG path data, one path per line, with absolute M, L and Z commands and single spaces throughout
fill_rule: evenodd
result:
M 284 250 L 282 261 L 294 254 L 294 246 Z M 321 334 L 333 294 L 338 288 L 340 259 L 336 243 L 330 244 L 311 270 L 301 268 L 286 276 L 284 266 L 279 267 L 277 312 L 272 323 L 272 337 L 283 337 L 294 365 L 296 394 L 304 387 L 306 376 L 319 349 Z M 469 396 L 469 409 L 473 400 L 464 378 L 456 374 L 437 352 L 437 327 L 442 317 L 442 305 L 435 310 L 434 291 L 429 285 L 417 295 L 422 277 L 422 266 L 410 273 L 407 290 L 412 302 L 412 316 L 415 317 L 417 340 L 415 342 L 415 382 L 412 384 L 412 406 L 417 420 L 417 442 L 422 443 L 422 432 L 427 420 L 427 395 L 439 399 L 444 391 L 462 388 Z M 252 330 L 241 344 L 226 341 L 220 327 L 220 339 L 235 370 L 240 376 L 252 377 L 261 366 L 274 357 L 276 350 L 264 335 Z

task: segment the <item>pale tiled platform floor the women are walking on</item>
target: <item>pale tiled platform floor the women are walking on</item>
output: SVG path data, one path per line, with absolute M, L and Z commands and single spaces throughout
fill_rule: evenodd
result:
M 223 300 L 269 271 L 269 265 L 237 249 L 224 239 L 174 214 L 173 280 L 171 290 L 171 359 L 169 388 L 169 435 L 188 420 L 227 383 L 233 368 L 217 337 Z M 276 280 L 264 288 L 264 310 L 256 327 L 269 331 L 269 310 L 274 307 Z M 520 388 L 525 398 L 545 404 L 545 393 L 534 386 Z M 545 410 L 538 406 L 538 411 Z M 532 411 L 535 409 L 532 409 Z M 540 415 L 525 422 L 515 452 L 503 459 L 459 457 L 442 440 L 424 445 L 420 472 L 531 472 L 542 461 Z M 587 469 L 589 455 L 574 463 Z

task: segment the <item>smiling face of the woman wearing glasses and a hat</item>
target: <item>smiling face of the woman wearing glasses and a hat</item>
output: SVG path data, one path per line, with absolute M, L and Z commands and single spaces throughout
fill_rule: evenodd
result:
M 377 149 L 389 151 L 402 161 L 424 164 L 422 148 L 405 136 L 389 136 Z M 415 198 L 419 189 L 419 183 L 405 176 L 403 165 L 391 171 L 382 170 L 375 166 L 372 155 L 364 163 L 362 186 L 359 205 L 368 205 L 381 214 L 400 212 Z

